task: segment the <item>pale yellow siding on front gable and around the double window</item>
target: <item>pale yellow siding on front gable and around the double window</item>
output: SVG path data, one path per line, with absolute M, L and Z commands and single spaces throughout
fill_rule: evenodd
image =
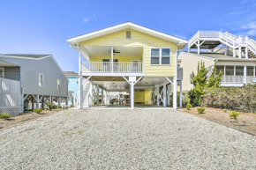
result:
M 128 29 L 129 30 L 129 29 Z M 143 47 L 143 59 L 145 64 L 145 76 L 147 77 L 173 77 L 175 76 L 175 54 L 176 44 L 158 39 L 156 37 L 132 31 L 132 39 L 126 39 L 126 31 L 109 33 L 108 35 L 98 37 L 89 41 L 80 42 L 83 46 L 121 46 L 121 47 Z M 171 48 L 170 65 L 151 65 L 151 48 Z M 94 56 L 93 56 L 94 57 Z M 92 61 L 92 60 L 91 60 Z M 121 62 L 121 61 L 120 61 Z

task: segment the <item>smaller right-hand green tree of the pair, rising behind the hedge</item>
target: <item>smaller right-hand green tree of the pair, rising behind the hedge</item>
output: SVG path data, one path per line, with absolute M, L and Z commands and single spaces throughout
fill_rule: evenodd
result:
M 217 67 L 215 63 L 214 69 L 210 77 L 207 79 L 207 87 L 208 88 L 219 87 L 221 85 L 221 82 L 222 82 L 222 70 L 220 70 L 219 75 L 217 75 Z

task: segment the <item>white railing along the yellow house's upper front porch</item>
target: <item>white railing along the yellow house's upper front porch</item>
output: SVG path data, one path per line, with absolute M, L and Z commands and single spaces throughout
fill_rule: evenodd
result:
M 94 73 L 142 73 L 143 62 L 83 62 L 82 72 Z

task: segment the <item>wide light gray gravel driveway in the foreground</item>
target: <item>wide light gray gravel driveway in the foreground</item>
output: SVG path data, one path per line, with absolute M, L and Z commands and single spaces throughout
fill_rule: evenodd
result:
M 65 110 L 0 131 L 0 169 L 256 169 L 256 137 L 171 109 Z

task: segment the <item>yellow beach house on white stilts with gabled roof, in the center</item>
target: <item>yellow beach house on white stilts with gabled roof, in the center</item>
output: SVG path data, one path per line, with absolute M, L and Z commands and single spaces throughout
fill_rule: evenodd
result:
M 177 52 L 187 41 L 132 22 L 67 41 L 79 52 L 79 108 L 108 105 L 122 92 L 132 108 L 171 106 L 170 97 L 177 108 L 177 82 L 182 87 Z

